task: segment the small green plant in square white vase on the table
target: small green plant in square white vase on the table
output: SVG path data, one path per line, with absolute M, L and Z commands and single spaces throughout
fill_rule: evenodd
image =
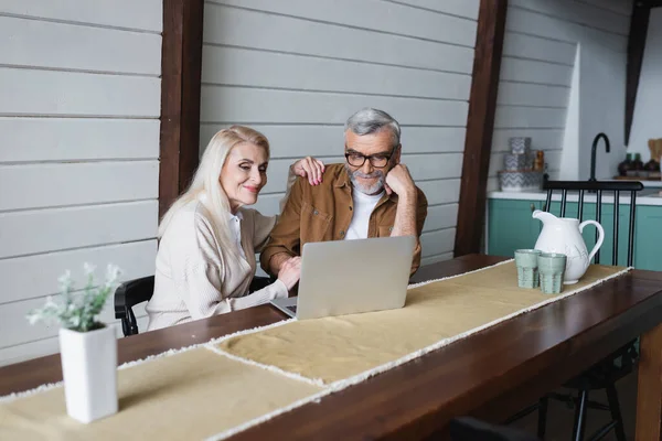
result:
M 90 422 L 117 412 L 117 337 L 111 326 L 97 315 L 115 288 L 119 268 L 108 265 L 106 281 L 96 286 L 95 268 L 85 263 L 87 283 L 74 293 L 67 270 L 60 280 L 61 299 L 28 314 L 31 324 L 43 321 L 60 324 L 60 352 L 66 411 L 70 417 Z

